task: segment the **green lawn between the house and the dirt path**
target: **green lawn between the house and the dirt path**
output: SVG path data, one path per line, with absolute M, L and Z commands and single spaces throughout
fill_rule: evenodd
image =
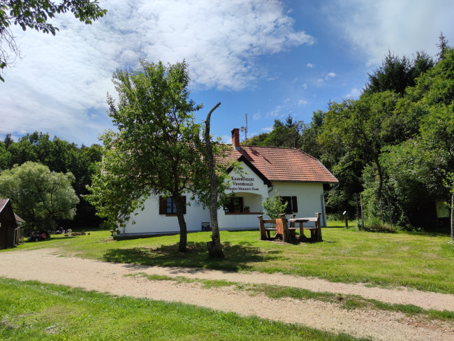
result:
M 149 266 L 189 266 L 231 271 L 256 270 L 315 276 L 333 282 L 364 282 L 454 293 L 454 246 L 447 235 L 370 233 L 323 228 L 324 242 L 298 245 L 259 240 L 258 231 L 221 231 L 226 259 L 211 260 L 210 232 L 188 234 L 189 251 L 177 250 L 179 235 L 114 241 L 108 231 L 52 236 L 17 249 L 58 247 L 63 254 Z

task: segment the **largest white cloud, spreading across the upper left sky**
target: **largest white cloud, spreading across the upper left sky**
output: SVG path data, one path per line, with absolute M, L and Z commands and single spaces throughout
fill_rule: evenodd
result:
M 101 0 L 108 15 L 92 25 L 70 13 L 52 22 L 56 36 L 13 27 L 22 60 L 1 85 L 0 134 L 49 131 L 74 140 L 96 136 L 110 119 L 106 92 L 116 68 L 140 58 L 189 63 L 192 88 L 240 90 L 267 78 L 256 57 L 313 38 L 293 28 L 280 1 Z M 90 142 L 93 138 L 90 138 Z M 87 143 L 87 142 L 86 142 Z

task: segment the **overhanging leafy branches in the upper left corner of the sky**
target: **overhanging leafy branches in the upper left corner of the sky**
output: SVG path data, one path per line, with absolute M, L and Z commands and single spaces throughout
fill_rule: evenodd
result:
M 0 1 L 0 70 L 20 55 L 10 29 L 13 24 L 19 25 L 24 31 L 27 28 L 36 29 L 55 36 L 59 29 L 48 20 L 68 11 L 85 24 L 91 24 L 107 13 L 107 10 L 99 7 L 97 0 L 61 0 L 58 4 L 49 0 Z M 1 75 L 0 80 L 4 81 Z

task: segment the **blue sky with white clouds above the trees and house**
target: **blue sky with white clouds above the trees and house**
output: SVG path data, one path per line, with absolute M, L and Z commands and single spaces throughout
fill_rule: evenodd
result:
M 108 15 L 92 25 L 70 14 L 56 36 L 15 27 L 22 59 L 0 84 L 0 138 L 42 131 L 91 145 L 111 129 L 112 73 L 147 61 L 186 59 L 196 115 L 212 116 L 226 142 L 288 115 L 309 123 L 328 102 L 358 98 L 388 50 L 436 55 L 441 31 L 454 45 L 451 0 L 99 0 Z M 241 136 L 244 138 L 244 135 Z

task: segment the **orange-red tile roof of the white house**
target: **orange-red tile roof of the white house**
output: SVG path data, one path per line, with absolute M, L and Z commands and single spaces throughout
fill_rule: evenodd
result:
M 228 159 L 245 157 L 270 181 L 337 183 L 337 179 L 316 158 L 296 148 L 241 145 Z

